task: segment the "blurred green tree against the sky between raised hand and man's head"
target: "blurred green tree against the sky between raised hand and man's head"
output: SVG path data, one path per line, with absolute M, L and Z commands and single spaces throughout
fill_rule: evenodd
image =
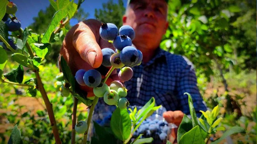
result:
M 95 9 L 95 18 L 104 23 L 113 23 L 118 28 L 122 26 L 122 16 L 125 14 L 123 1 L 119 0 L 117 4 L 109 0 L 103 3 L 103 9 Z

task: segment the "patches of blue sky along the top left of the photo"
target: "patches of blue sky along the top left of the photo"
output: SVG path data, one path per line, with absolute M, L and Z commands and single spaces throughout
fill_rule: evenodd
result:
M 18 7 L 16 17 L 21 21 L 21 27 L 24 29 L 33 22 L 33 17 L 37 16 L 37 13 L 50 5 L 48 0 L 11 0 Z M 75 0 L 77 3 L 78 0 Z M 106 3 L 107 0 L 85 0 L 81 7 L 85 12 L 89 13 L 88 18 L 95 18 L 95 9 L 102 8 L 102 3 Z M 118 3 L 118 0 L 113 0 L 114 3 Z M 127 5 L 127 0 L 123 0 L 124 7 Z M 73 26 L 77 24 L 77 20 L 71 19 L 70 24 Z

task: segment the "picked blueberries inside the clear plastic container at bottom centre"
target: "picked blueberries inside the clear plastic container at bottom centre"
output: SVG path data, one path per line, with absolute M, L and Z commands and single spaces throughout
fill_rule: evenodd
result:
M 153 137 L 154 143 L 163 143 L 167 140 L 169 130 L 168 122 L 148 118 L 142 122 L 132 137 L 136 138 L 139 134 L 143 134 L 142 138 Z

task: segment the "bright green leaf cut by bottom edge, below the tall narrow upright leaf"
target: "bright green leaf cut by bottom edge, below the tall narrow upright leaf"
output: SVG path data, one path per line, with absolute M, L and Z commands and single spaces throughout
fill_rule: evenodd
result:
M 195 126 L 180 138 L 179 144 L 205 144 L 199 126 Z

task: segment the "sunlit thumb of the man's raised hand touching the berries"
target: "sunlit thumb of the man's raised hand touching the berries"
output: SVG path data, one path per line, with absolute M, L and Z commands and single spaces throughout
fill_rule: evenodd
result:
M 97 68 L 103 61 L 103 55 L 99 46 L 99 28 L 101 22 L 98 20 L 78 23 L 78 28 L 73 33 L 72 43 L 83 60 L 93 68 Z

